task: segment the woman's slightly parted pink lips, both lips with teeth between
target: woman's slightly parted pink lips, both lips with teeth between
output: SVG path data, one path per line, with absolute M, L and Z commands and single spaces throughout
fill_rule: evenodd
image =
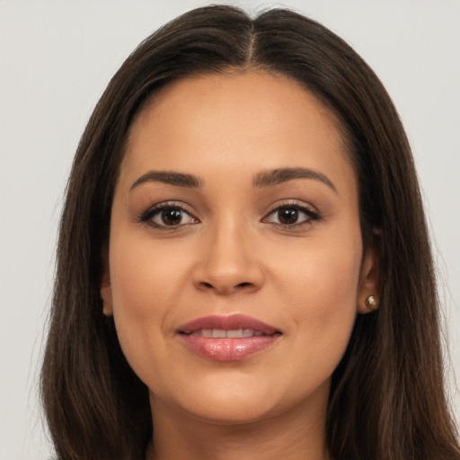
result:
M 183 324 L 178 333 L 202 358 L 234 361 L 268 349 L 281 335 L 277 329 L 244 314 L 212 315 Z

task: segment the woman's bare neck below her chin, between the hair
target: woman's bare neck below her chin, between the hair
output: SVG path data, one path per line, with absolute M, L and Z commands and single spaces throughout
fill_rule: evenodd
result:
M 239 424 L 199 420 L 152 398 L 151 405 L 155 429 L 146 460 L 329 459 L 324 403 L 302 403 L 268 419 Z

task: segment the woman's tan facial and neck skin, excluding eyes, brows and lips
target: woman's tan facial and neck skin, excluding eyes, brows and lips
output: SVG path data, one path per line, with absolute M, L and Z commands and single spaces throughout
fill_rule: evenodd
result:
M 254 186 L 257 174 L 308 168 Z M 142 181 L 193 174 L 201 187 Z M 164 226 L 156 204 L 186 212 Z M 300 206 L 296 225 L 275 209 Z M 146 458 L 328 458 L 332 372 L 367 296 L 376 253 L 363 251 L 358 186 L 338 121 L 314 95 L 261 71 L 169 84 L 135 119 L 120 167 L 102 280 L 104 314 L 150 389 Z M 239 361 L 199 357 L 177 328 L 209 314 L 247 314 L 282 335 Z M 155 446 L 155 448 L 153 447 Z

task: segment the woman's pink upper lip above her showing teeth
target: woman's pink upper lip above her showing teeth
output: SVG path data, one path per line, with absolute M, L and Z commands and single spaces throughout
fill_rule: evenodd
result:
M 190 334 L 191 332 L 201 331 L 203 329 L 222 329 L 224 331 L 250 329 L 252 331 L 260 331 L 267 335 L 280 332 L 273 326 L 245 314 L 213 314 L 210 316 L 203 316 L 189 323 L 182 324 L 178 328 L 178 332 Z

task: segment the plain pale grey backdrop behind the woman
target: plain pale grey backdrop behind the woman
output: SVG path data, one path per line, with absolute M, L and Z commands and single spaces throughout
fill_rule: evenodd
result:
M 214 2 L 221 3 L 221 2 Z M 168 1 L 0 0 L 0 459 L 45 460 L 37 381 L 57 223 L 78 139 L 111 75 L 179 13 Z M 394 98 L 426 200 L 460 415 L 460 2 L 243 1 L 297 9 L 336 31 Z

